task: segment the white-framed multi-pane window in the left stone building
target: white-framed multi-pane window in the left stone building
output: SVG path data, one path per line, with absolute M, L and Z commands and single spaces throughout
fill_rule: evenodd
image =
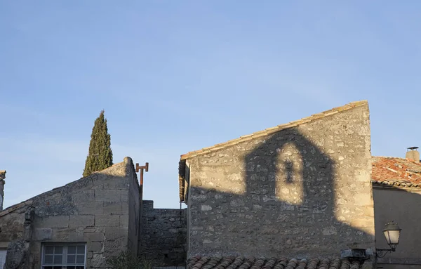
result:
M 85 269 L 85 244 L 44 244 L 43 269 Z

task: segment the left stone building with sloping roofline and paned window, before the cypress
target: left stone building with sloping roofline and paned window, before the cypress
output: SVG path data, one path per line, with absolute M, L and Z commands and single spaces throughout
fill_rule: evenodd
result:
M 132 160 L 126 157 L 0 211 L 4 268 L 105 268 L 105 258 L 120 251 L 137 254 L 139 195 Z

